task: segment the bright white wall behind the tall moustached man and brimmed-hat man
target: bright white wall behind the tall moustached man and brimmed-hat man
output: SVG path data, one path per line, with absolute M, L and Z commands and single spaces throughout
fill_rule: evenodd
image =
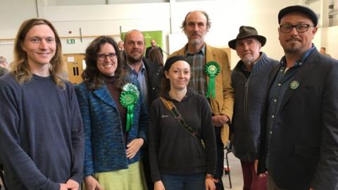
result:
M 175 18 L 172 18 L 173 35 L 170 38 L 177 42 L 169 41 L 170 52 L 182 47 L 187 42 L 180 25 L 184 16 L 191 10 L 204 10 L 211 18 L 211 30 L 206 36 L 206 42 L 213 46 L 227 47 L 227 42 L 236 38 L 239 27 L 250 25 L 256 27 L 258 34 L 267 38 L 267 43 L 262 51 L 268 56 L 279 60 L 283 55 L 278 41 L 277 14 L 285 6 L 297 4 L 298 1 L 270 1 L 270 0 L 237 0 L 237 1 L 200 1 L 176 3 Z M 179 37 L 182 35 L 181 37 Z M 180 40 L 178 40 L 180 39 Z M 183 40 L 184 39 L 184 40 Z M 180 44 L 180 45 L 177 45 Z M 173 48 L 172 48 L 173 47 Z M 235 51 L 231 55 L 232 67 L 239 61 Z

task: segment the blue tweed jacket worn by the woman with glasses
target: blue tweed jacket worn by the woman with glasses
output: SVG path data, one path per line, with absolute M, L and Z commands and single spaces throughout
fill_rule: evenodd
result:
M 129 78 L 127 81 L 139 87 L 136 79 Z M 75 92 L 84 126 L 84 176 L 126 169 L 129 164 L 139 161 L 141 151 L 134 158 L 127 158 L 120 115 L 106 84 L 89 91 L 82 82 L 75 86 Z M 137 138 L 146 140 L 149 118 L 143 102 L 140 96 L 134 106 L 134 120 L 127 144 Z

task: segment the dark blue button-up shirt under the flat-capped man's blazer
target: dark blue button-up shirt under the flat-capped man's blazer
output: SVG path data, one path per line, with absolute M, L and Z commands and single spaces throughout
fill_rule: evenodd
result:
M 284 97 L 285 92 L 288 88 L 297 88 L 299 85 L 299 82 L 294 79 L 294 75 L 296 72 L 299 71 L 301 66 L 305 63 L 306 58 L 312 53 L 312 51 L 315 49 L 315 46 L 313 45 L 311 49 L 308 49 L 306 53 L 294 63 L 294 65 L 291 68 L 287 68 L 287 61 L 285 56 L 282 57 L 280 61 L 280 68 L 277 72 L 277 75 L 275 77 L 275 80 L 273 81 L 273 84 L 270 87 L 270 91 L 268 94 L 268 118 L 266 122 L 266 137 L 268 137 L 268 149 L 270 150 L 270 138 L 273 134 L 273 128 L 275 127 L 275 119 L 277 116 L 277 113 L 280 111 L 280 106 L 282 103 L 282 99 Z M 282 126 L 287 127 L 287 126 Z M 269 156 L 270 151 L 268 151 L 268 157 L 266 159 L 266 165 L 269 167 Z

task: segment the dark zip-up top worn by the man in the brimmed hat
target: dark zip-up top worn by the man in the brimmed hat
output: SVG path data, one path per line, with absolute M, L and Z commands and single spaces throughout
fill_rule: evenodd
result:
M 239 61 L 232 71 L 231 81 L 234 88 L 234 115 L 232 131 L 234 156 L 240 160 L 253 162 L 258 158 L 261 134 L 261 110 L 264 91 L 267 89 L 269 74 L 279 62 L 261 53 L 253 65 L 248 79 L 242 72 L 244 63 Z

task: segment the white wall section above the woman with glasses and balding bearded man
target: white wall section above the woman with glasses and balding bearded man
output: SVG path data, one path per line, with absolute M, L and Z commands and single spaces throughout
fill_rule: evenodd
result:
M 42 15 L 54 23 L 61 37 L 75 38 L 75 44 L 66 44 L 66 39 L 62 40 L 63 53 L 84 53 L 88 44 L 98 35 L 114 35 L 119 39 L 120 27 L 122 32 L 132 29 L 163 30 L 163 39 L 170 31 L 169 4 L 164 3 L 45 6 Z M 83 42 L 79 38 L 80 29 L 84 36 Z M 167 46 L 166 41 L 163 46 Z

